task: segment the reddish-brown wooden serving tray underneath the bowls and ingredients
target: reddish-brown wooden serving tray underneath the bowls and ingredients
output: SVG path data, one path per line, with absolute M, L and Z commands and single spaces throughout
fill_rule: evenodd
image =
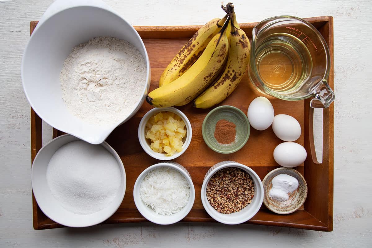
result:
M 333 17 L 323 16 L 306 19 L 312 23 L 323 35 L 331 54 L 331 71 L 328 79 L 333 88 Z M 37 22 L 31 22 L 31 33 Z M 244 23 L 241 28 L 247 36 L 251 36 L 252 29 L 257 23 Z M 158 87 L 158 80 L 164 68 L 174 55 L 182 48 L 186 41 L 200 28 L 200 26 L 135 26 L 147 48 L 151 63 L 150 91 Z M 220 105 L 232 105 L 243 112 L 247 112 L 249 103 L 261 96 L 250 83 L 247 74 L 228 99 Z M 267 96 L 266 96 L 267 97 Z M 296 167 L 308 185 L 308 195 L 304 206 L 289 215 L 278 215 L 262 205 L 260 211 L 248 224 L 283 226 L 291 228 L 310 229 L 318 231 L 332 231 L 333 229 L 333 104 L 323 110 L 323 162 L 317 162 L 313 139 L 313 109 L 310 99 L 287 102 L 269 97 L 275 114 L 294 116 L 300 123 L 302 134 L 296 141 L 307 151 L 307 160 Z M 124 200 L 116 213 L 103 223 L 132 223 L 147 221 L 136 209 L 133 200 L 133 186 L 138 175 L 148 166 L 158 161 L 148 156 L 140 146 L 137 128 L 144 114 L 152 107 L 144 103 L 141 109 L 128 122 L 116 128 L 107 138 L 107 142 L 121 157 L 126 175 L 126 192 Z M 191 212 L 182 220 L 184 222 L 215 222 L 201 203 L 201 186 L 205 173 L 217 162 L 233 160 L 251 167 L 260 176 L 278 168 L 273 159 L 273 150 L 280 144 L 272 128 L 256 131 L 251 128 L 247 144 L 238 152 L 232 154 L 218 154 L 203 141 L 202 122 L 210 111 L 195 109 L 188 104 L 179 107 L 189 118 L 192 125 L 192 141 L 186 152 L 174 161 L 182 164 L 190 173 L 195 186 L 195 203 Z M 42 147 L 42 122 L 31 109 L 31 161 Z M 63 133 L 53 129 L 53 138 Z M 55 223 L 38 207 L 33 197 L 33 228 L 49 229 L 62 227 Z

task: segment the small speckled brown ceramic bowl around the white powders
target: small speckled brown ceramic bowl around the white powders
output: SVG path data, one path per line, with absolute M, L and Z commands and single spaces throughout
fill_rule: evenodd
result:
M 279 202 L 269 197 L 269 191 L 273 187 L 271 181 L 279 174 L 290 175 L 298 181 L 298 188 L 292 193 L 289 193 L 289 199 L 284 202 Z M 263 178 L 262 184 L 264 191 L 263 204 L 274 213 L 279 213 L 281 215 L 293 213 L 299 209 L 306 200 L 307 184 L 305 178 L 294 169 L 282 167 L 272 170 Z

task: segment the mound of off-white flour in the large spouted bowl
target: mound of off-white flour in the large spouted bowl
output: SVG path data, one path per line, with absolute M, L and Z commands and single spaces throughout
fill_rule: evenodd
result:
M 86 122 L 111 125 L 137 106 L 146 84 L 146 63 L 127 41 L 97 37 L 77 45 L 60 74 L 62 99 Z

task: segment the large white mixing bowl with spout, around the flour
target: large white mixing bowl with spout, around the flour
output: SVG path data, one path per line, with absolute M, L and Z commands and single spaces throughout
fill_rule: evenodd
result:
M 142 94 L 131 114 L 105 127 L 86 123 L 73 115 L 62 100 L 60 86 L 62 65 L 72 48 L 98 36 L 130 42 L 141 52 L 147 66 Z M 29 103 L 45 122 L 91 144 L 100 144 L 140 109 L 150 87 L 150 62 L 137 31 L 106 4 L 97 0 L 58 0 L 45 12 L 31 35 L 22 58 L 21 76 Z

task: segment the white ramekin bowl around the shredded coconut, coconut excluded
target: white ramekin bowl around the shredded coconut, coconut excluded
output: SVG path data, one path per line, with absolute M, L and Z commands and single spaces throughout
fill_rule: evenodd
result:
M 173 215 L 164 216 L 164 215 L 156 214 L 154 210 L 152 210 L 150 207 L 146 206 L 145 203 L 142 202 L 141 197 L 140 197 L 140 185 L 144 177 L 150 171 L 156 168 L 161 168 L 161 167 L 169 167 L 169 168 L 173 168 L 176 171 L 179 171 L 186 178 L 190 186 L 189 202 L 186 204 L 186 206 L 182 210 L 180 210 L 179 212 Z M 192 179 L 190 177 L 189 172 L 182 165 L 177 164 L 176 162 L 173 162 L 173 161 L 160 162 L 158 164 L 151 165 L 146 170 L 142 171 L 142 173 L 138 176 L 134 184 L 134 188 L 133 188 L 133 198 L 134 198 L 134 203 L 136 204 L 138 211 L 140 211 L 143 217 L 159 225 L 170 225 L 170 224 L 179 222 L 180 220 L 185 218 L 185 216 L 190 212 L 194 204 L 194 201 L 195 201 L 195 188 L 194 188 L 194 184 L 192 183 Z

